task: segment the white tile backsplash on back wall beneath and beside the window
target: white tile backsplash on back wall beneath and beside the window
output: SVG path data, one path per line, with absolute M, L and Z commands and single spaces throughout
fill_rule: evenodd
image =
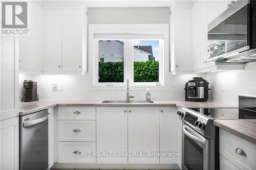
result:
M 151 91 L 152 100 L 177 100 L 184 99 L 184 85 L 187 80 L 196 75 L 171 76 L 169 74 L 168 89 Z M 123 90 L 92 91 L 89 90 L 89 77 L 82 75 L 31 75 L 19 74 L 20 99 L 24 94 L 23 81 L 32 80 L 37 82 L 39 100 L 125 100 L 126 87 Z M 63 91 L 52 91 L 53 83 L 63 83 Z M 138 91 L 131 87 L 134 100 L 145 100 L 146 88 Z

